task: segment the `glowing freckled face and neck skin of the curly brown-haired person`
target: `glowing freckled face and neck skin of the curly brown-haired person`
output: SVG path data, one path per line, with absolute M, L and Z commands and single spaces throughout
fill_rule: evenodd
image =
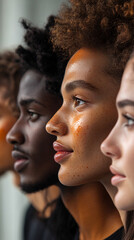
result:
M 72 186 L 62 190 L 62 198 L 79 225 L 80 240 L 102 240 L 122 226 L 99 183 L 111 175 L 110 159 L 102 155 L 100 144 L 117 118 L 119 85 L 106 73 L 108 62 L 99 51 L 80 49 L 74 54 L 62 83 L 63 104 L 46 126 L 57 136 L 53 146 L 59 180 Z

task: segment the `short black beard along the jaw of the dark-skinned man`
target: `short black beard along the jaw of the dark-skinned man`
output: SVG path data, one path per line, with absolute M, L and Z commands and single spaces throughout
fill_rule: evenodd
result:
M 33 184 L 23 184 L 20 182 L 20 188 L 25 193 L 34 193 L 34 192 L 43 190 L 44 188 L 48 188 L 52 185 L 57 185 L 57 184 L 58 184 L 58 178 L 56 175 L 53 178 L 50 177 L 49 179 L 47 179 L 47 181 L 45 179 L 44 181 L 42 180 Z

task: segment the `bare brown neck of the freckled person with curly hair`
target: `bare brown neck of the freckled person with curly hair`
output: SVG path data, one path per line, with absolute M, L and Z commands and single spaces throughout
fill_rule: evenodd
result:
M 101 240 L 122 226 L 111 198 L 100 183 L 62 189 L 62 199 L 80 230 L 81 240 Z

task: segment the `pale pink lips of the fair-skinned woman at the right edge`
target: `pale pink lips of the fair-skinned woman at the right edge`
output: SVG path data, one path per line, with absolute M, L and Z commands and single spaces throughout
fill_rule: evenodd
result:
M 116 170 L 112 166 L 110 166 L 110 171 L 114 175 L 111 178 L 111 184 L 114 185 L 114 186 L 118 185 L 120 182 L 124 181 L 124 179 L 126 178 L 125 175 L 123 175 L 122 173 L 118 172 L 118 170 Z

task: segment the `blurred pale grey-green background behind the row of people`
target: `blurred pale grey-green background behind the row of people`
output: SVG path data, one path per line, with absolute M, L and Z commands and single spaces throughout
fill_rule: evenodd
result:
M 23 41 L 20 19 L 42 27 L 50 14 L 56 14 L 67 0 L 0 0 L 0 51 L 12 49 Z M 22 240 L 28 201 L 13 185 L 11 173 L 0 178 L 0 240 Z

